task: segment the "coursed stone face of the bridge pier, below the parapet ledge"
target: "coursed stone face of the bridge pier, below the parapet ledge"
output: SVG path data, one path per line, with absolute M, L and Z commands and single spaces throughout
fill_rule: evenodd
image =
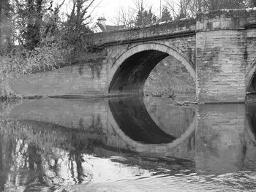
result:
M 197 33 L 197 99 L 200 102 L 244 101 L 245 60 L 241 31 Z

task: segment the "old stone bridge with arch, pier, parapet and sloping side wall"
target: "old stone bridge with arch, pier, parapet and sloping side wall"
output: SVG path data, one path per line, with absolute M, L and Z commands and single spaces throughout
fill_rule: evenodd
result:
M 256 87 L 256 9 L 220 10 L 144 28 L 83 37 L 100 50 L 86 62 L 12 80 L 26 96 L 116 96 L 143 93 L 148 74 L 168 55 L 184 65 L 200 103 L 244 102 Z M 89 54 L 89 53 L 86 53 Z

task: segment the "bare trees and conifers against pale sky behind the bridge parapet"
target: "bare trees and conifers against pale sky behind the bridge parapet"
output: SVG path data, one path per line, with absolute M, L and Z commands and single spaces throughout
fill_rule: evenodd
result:
M 168 20 L 180 20 L 182 18 L 196 17 L 198 13 L 206 13 L 217 9 L 242 9 L 256 7 L 256 0 L 165 0 L 160 18 L 154 15 L 151 8 L 143 7 L 143 1 L 134 0 L 134 6 L 125 9 L 121 7 L 117 11 L 113 23 L 126 27 L 146 26 Z

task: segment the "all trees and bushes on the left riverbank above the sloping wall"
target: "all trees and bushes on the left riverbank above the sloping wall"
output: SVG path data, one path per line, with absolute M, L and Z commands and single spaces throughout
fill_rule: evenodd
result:
M 87 13 L 94 0 L 0 1 L 0 98 L 19 97 L 9 82 L 20 74 L 56 69 L 83 51 L 80 37 L 90 33 Z

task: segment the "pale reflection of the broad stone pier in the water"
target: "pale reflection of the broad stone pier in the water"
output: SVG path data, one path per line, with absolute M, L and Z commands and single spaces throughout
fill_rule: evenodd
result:
M 244 105 L 206 105 L 200 107 L 199 114 L 195 158 L 197 168 L 217 174 L 243 169 L 246 153 Z

